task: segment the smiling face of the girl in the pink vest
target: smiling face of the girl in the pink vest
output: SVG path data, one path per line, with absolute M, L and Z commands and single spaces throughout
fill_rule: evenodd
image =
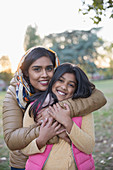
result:
M 65 73 L 55 82 L 52 92 L 57 96 L 59 101 L 62 101 L 73 96 L 76 86 L 75 75 L 73 73 Z

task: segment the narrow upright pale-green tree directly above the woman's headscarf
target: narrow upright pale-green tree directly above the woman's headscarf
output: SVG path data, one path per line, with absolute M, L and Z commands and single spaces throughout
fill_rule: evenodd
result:
M 24 50 L 28 50 L 29 48 L 40 45 L 41 38 L 37 35 L 37 26 L 34 27 L 29 25 L 26 30 L 25 39 L 24 39 Z

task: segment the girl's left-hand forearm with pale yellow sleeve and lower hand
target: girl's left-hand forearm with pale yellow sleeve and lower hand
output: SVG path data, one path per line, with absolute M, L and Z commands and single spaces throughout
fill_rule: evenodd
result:
M 27 119 L 27 116 L 25 116 L 25 118 Z M 33 140 L 29 145 L 27 145 L 24 149 L 21 150 L 23 154 L 29 156 L 36 153 L 44 152 L 47 141 L 53 138 L 54 136 L 64 132 L 64 129 L 61 130 L 60 127 L 61 125 L 58 124 L 58 122 L 53 122 L 52 117 L 44 120 L 40 126 L 39 137 Z

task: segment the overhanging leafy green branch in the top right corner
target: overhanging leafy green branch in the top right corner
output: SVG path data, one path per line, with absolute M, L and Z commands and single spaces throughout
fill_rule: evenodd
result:
M 94 24 L 98 24 L 102 20 L 102 16 L 113 18 L 113 0 L 82 0 L 82 8 L 79 9 L 83 15 L 91 14 Z

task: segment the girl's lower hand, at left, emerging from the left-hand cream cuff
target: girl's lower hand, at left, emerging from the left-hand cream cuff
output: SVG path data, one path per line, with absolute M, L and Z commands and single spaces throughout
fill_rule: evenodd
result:
M 57 121 L 53 122 L 53 118 L 45 119 L 40 126 L 39 137 L 36 140 L 38 148 L 41 149 L 48 140 L 65 131 L 64 128 L 60 129 L 60 127 L 61 124 Z

